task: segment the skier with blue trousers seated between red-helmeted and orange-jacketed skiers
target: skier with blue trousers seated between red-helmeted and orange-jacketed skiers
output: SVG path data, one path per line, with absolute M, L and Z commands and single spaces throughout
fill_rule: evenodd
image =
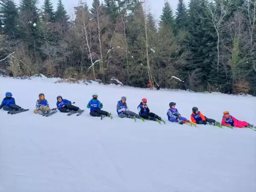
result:
M 181 125 L 185 122 L 190 122 L 188 119 L 185 117 L 181 116 L 177 108 L 175 107 L 176 103 L 175 102 L 170 102 L 169 103 L 169 109 L 167 111 L 167 116 L 169 121 L 171 122 L 179 122 Z

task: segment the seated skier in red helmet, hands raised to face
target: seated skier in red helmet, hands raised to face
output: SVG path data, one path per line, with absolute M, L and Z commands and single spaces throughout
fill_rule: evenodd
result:
M 143 119 L 157 121 L 159 123 L 162 121 L 163 123 L 165 123 L 165 121 L 160 116 L 150 112 L 147 105 L 147 99 L 143 98 L 140 102 L 140 105 L 138 105 L 137 109 L 139 110 L 140 117 L 142 117 Z

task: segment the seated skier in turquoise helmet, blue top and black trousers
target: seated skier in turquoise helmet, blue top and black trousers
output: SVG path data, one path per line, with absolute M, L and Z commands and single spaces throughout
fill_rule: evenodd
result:
M 101 110 L 103 108 L 102 103 L 98 100 L 98 94 L 93 93 L 93 99 L 91 99 L 88 104 L 87 108 L 90 109 L 91 116 L 108 116 L 112 119 L 112 114 L 108 113 L 107 111 Z

